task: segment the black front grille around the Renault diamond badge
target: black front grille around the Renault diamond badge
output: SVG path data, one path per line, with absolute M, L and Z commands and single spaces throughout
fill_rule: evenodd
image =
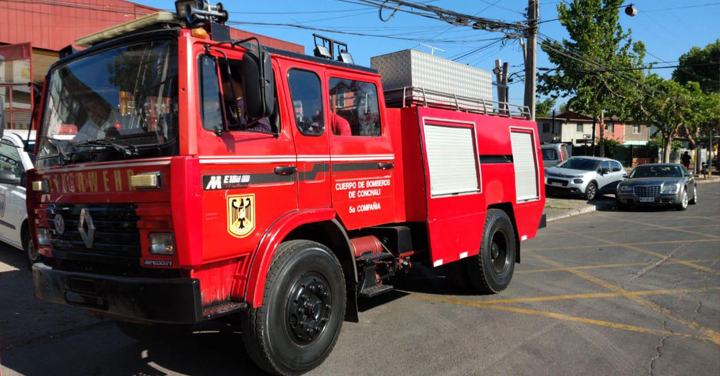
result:
M 85 209 L 95 226 L 92 247 L 88 248 L 80 235 L 80 213 Z M 50 205 L 47 208 L 48 226 L 52 233 L 53 257 L 86 261 L 127 262 L 140 257 L 140 231 L 131 204 Z M 60 214 L 65 230 L 58 234 L 55 217 Z M 87 229 L 87 227 L 86 227 Z

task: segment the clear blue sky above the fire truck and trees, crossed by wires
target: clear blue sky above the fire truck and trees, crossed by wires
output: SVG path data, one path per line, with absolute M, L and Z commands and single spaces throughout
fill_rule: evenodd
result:
M 174 2 L 167 0 L 140 1 L 150 6 L 171 9 Z M 354 2 L 350 0 L 350 2 Z M 423 0 L 427 2 L 427 0 Z M 556 6 L 560 0 L 540 0 L 540 18 L 549 20 L 557 17 Z M 704 47 L 720 37 L 720 1 L 717 0 L 633 0 L 638 14 L 620 17 L 624 29 L 631 29 L 635 40 L 645 43 L 648 54 L 646 62 L 660 62 L 659 65 L 676 65 L 678 58 L 693 46 Z M 629 3 L 629 2 L 628 2 Z M 439 0 L 428 4 L 473 14 L 479 17 L 520 21 L 527 6 L 527 0 Z M 492 5 L 495 4 L 495 5 Z M 399 38 L 420 39 L 398 40 L 370 36 L 346 35 L 333 32 L 317 32 L 330 38 L 346 42 L 355 62 L 370 66 L 370 57 L 407 48 L 429 52 L 419 43 L 432 45 L 445 52 L 436 54 L 456 58 L 463 53 L 492 43 L 488 38 L 502 34 L 477 31 L 468 27 L 452 27 L 447 23 L 426 19 L 416 15 L 398 12 L 390 21 L 382 22 L 378 10 L 339 0 L 279 0 L 279 1 L 225 1 L 231 21 L 260 22 L 271 24 L 302 24 L 305 26 L 342 30 L 346 32 L 393 35 Z M 684 9 L 676 9 L 686 7 Z M 384 12 L 387 17 L 388 11 Z M 305 46 L 308 54 L 313 49 L 313 31 L 281 26 L 233 25 L 239 29 L 263 34 Z M 566 36 L 559 22 L 543 23 L 540 32 L 554 39 Z M 510 72 L 523 70 L 522 50 L 517 41 L 506 45 L 493 44 L 481 52 L 472 54 L 459 62 L 491 70 L 495 59 L 502 59 L 511 65 Z M 667 61 L 663 63 L 662 61 Z M 545 54 L 540 51 L 538 66 L 548 67 Z M 673 69 L 655 72 L 670 77 Z M 510 101 L 522 103 L 523 83 L 515 80 L 510 88 Z

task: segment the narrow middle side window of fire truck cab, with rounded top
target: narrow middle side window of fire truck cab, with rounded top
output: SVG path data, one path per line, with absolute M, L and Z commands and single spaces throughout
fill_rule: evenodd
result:
M 293 69 L 288 73 L 290 97 L 295 110 L 295 122 L 300 133 L 319 136 L 325 132 L 322 86 L 317 74 Z

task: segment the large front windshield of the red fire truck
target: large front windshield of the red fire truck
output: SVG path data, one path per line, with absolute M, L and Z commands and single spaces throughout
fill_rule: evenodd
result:
M 140 42 L 71 61 L 53 70 L 46 96 L 39 166 L 169 155 L 178 133 L 177 46 Z

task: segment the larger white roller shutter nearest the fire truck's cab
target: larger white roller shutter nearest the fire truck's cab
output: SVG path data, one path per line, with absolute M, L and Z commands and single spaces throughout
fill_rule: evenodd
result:
M 480 190 L 472 128 L 426 124 L 425 147 L 432 196 Z

